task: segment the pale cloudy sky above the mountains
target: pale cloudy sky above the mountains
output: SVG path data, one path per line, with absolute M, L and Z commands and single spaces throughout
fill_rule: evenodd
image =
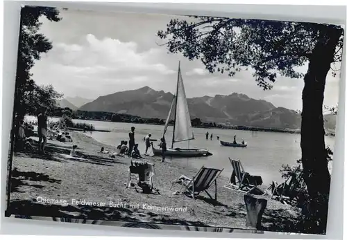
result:
M 162 43 L 158 30 L 165 30 L 173 18 L 187 17 L 85 10 L 60 10 L 60 17 L 59 22 L 40 18 L 40 32 L 53 48 L 42 54 L 31 73 L 37 84 L 52 84 L 65 97 L 96 99 L 143 86 L 174 93 L 180 61 L 187 98 L 236 92 L 276 107 L 302 108 L 303 79 L 278 77 L 271 91 L 263 91 L 251 71 L 233 77 L 211 74 L 200 60 L 168 54 L 165 46 L 158 45 Z M 307 65 L 298 71 L 305 73 Z M 339 74 L 328 73 L 324 104 L 335 106 L 338 95 Z

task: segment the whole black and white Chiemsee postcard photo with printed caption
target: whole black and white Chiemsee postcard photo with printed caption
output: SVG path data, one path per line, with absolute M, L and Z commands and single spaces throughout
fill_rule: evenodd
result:
M 325 234 L 343 37 L 24 6 L 6 216 Z

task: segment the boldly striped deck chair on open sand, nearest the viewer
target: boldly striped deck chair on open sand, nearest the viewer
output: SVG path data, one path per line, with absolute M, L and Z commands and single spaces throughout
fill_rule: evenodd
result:
M 185 190 L 195 199 L 196 196 L 205 192 L 208 194 L 210 199 L 217 201 L 217 178 L 221 174 L 223 169 L 214 169 L 208 167 L 201 167 L 198 173 L 193 178 L 188 178 L 187 176 L 180 176 L 171 185 L 171 188 L 175 183 L 181 185 L 180 191 L 185 187 Z M 208 192 L 208 188 L 214 183 L 214 198 Z M 170 190 L 171 190 L 170 188 Z

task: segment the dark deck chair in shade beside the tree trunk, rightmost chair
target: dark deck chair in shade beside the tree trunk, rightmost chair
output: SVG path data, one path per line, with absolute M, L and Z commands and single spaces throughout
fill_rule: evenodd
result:
M 276 183 L 273 181 L 271 186 L 268 188 L 271 190 L 271 199 L 279 199 L 279 201 L 292 201 L 297 200 L 296 190 L 303 184 L 303 173 L 297 175 L 292 175 L 287 178 L 283 183 Z

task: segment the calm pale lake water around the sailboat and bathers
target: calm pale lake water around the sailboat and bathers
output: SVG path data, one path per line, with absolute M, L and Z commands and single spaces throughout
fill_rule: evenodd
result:
M 36 120 L 35 117 L 27 117 L 27 120 Z M 49 118 L 56 121 L 58 118 Z M 91 120 L 74 120 L 86 124 L 93 124 L 95 129 L 110 130 L 111 132 L 88 132 L 85 133 L 105 145 L 119 145 L 121 140 L 128 140 L 130 127 L 134 126 L 135 141 L 139 144 L 139 150 L 144 153 L 145 145 L 143 138 L 148 133 L 152 134 L 152 139 L 158 139 L 153 145 L 158 145 L 162 136 L 164 126 L 150 124 L 130 124 L 124 122 L 102 122 Z M 172 136 L 173 127 L 169 126 L 168 136 Z M 242 131 L 229 129 L 198 129 L 194 128 L 195 140 L 189 141 L 189 147 L 208 149 L 213 156 L 200 158 L 172 158 L 180 161 L 183 165 L 191 165 L 196 168 L 201 166 L 223 168 L 222 175 L 230 176 L 232 167 L 228 157 L 239 159 L 246 172 L 252 175 L 262 176 L 264 185 L 269 185 L 271 181 L 282 181 L 280 172 L 282 164 L 295 165 L 296 160 L 301 158 L 300 134 L 296 133 L 276 133 L 262 131 Z M 213 139 L 205 139 L 205 133 L 213 133 Z M 247 147 L 223 147 L 219 140 L 232 142 L 234 135 L 237 142 L 243 139 L 247 142 Z M 217 140 L 219 136 L 219 140 Z M 334 150 L 335 137 L 325 136 L 325 144 Z M 167 146 L 171 147 L 170 139 L 167 139 Z M 187 142 L 178 142 L 174 147 L 188 147 Z M 151 154 L 151 151 L 150 151 Z M 169 160 L 169 158 L 168 158 Z

